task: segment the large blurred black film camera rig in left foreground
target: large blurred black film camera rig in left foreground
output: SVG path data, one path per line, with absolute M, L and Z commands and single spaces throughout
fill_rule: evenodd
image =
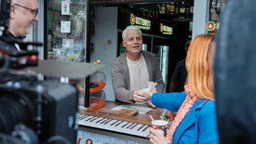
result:
M 4 33 L 9 5 L 10 0 L 0 0 L 0 26 Z M 16 39 L 1 40 L 21 44 Z M 69 84 L 39 81 L 35 75 L 11 74 L 8 70 L 36 66 L 37 56 L 37 52 L 13 52 L 0 46 L 0 144 L 76 141 L 77 89 Z

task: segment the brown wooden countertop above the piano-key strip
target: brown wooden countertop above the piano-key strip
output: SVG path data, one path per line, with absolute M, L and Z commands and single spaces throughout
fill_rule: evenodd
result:
M 96 111 L 90 111 L 86 110 L 83 107 L 79 107 L 79 113 L 81 114 L 88 114 L 92 116 L 98 116 L 98 117 L 104 117 L 104 118 L 111 118 L 116 119 L 120 121 L 127 121 L 137 124 L 147 124 L 151 125 L 151 119 L 149 115 L 152 115 L 152 117 L 155 120 L 159 119 L 159 116 L 162 114 L 163 109 L 161 108 L 155 108 L 152 111 L 148 111 L 145 114 L 138 114 L 136 116 L 128 116 L 124 114 L 116 114 L 115 111 L 111 110 L 112 108 L 119 106 L 119 105 L 130 105 L 130 106 L 137 106 L 137 107 L 144 107 L 144 108 L 151 108 L 149 106 L 141 106 L 141 105 L 135 105 L 135 104 L 124 104 L 124 103 L 118 103 L 114 101 L 106 101 L 105 105 Z

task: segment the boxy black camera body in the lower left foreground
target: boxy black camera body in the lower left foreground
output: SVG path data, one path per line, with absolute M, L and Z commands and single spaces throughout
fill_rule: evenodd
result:
M 1 74 L 0 133 L 20 137 L 14 134 L 20 132 L 17 127 L 22 124 L 31 128 L 36 137 L 26 131 L 23 134 L 38 138 L 38 143 L 76 143 L 78 91 L 74 85 Z

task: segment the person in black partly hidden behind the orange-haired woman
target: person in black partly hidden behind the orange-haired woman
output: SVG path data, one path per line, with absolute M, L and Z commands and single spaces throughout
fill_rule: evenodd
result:
M 188 46 L 191 39 L 188 39 L 185 43 L 185 52 L 188 51 Z M 171 82 L 169 86 L 169 92 L 182 92 L 184 91 L 184 84 L 187 78 L 187 70 L 185 66 L 186 59 L 182 59 L 176 65 L 174 72 L 171 76 Z

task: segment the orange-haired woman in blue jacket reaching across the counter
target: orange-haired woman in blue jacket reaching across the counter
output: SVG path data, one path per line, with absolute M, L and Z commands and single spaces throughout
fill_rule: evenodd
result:
M 178 111 L 168 136 L 164 137 L 150 128 L 153 144 L 215 144 L 218 143 L 215 98 L 213 93 L 213 57 L 215 34 L 196 36 L 188 49 L 186 69 L 188 72 L 184 92 L 155 93 L 149 95 L 156 107 Z

